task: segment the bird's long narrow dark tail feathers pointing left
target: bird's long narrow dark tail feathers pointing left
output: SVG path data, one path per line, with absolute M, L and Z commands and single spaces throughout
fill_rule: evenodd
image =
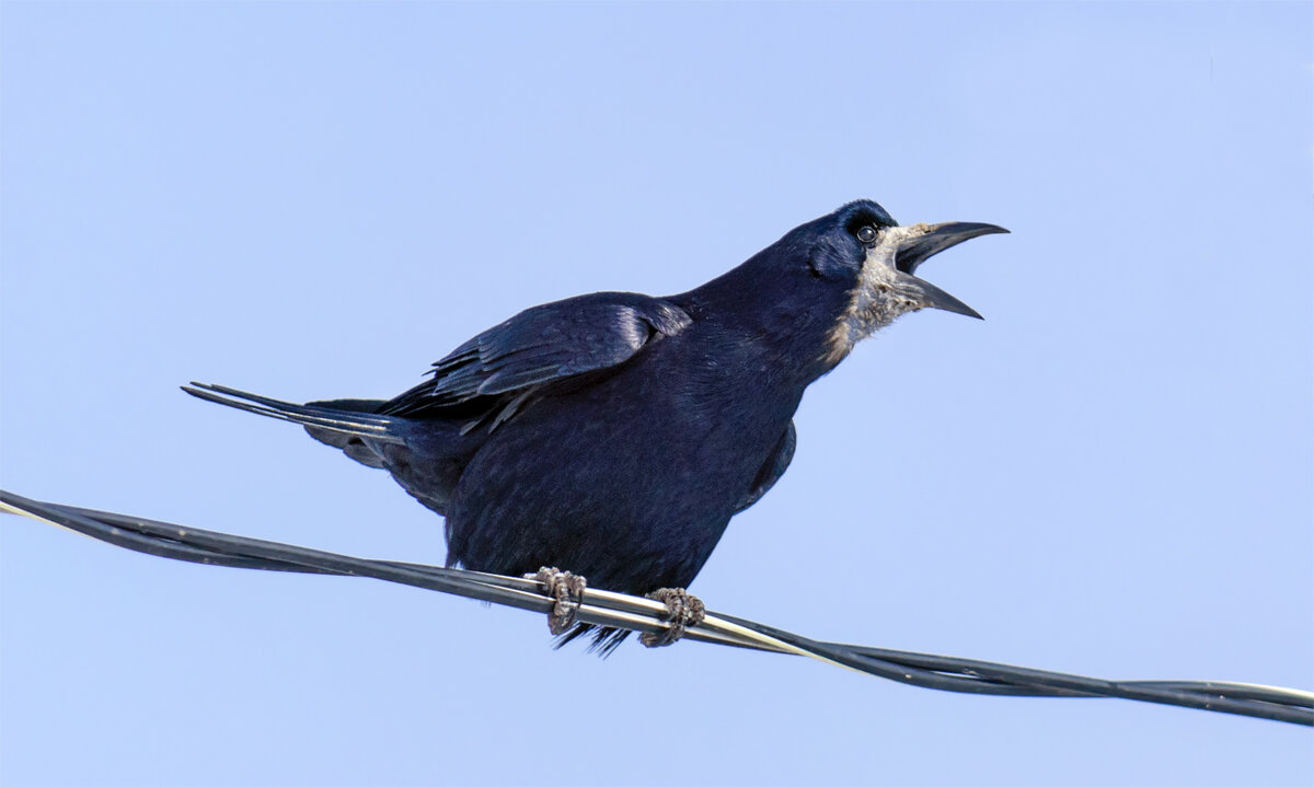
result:
M 205 382 L 184 385 L 183 390 L 208 402 L 300 423 L 314 439 L 344 451 L 351 444 L 359 444 L 360 438 L 384 443 L 405 443 L 399 434 L 405 419 L 380 415 L 377 409 L 384 405 L 381 399 L 335 399 L 293 405 L 235 388 Z M 364 461 L 355 456 L 352 459 Z

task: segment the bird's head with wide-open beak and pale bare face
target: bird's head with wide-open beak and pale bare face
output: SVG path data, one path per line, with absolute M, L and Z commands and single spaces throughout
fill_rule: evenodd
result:
M 971 306 L 915 273 L 951 246 L 1007 231 L 972 222 L 900 226 L 880 205 L 859 200 L 791 233 L 809 246 L 808 272 L 829 285 L 836 301 L 827 364 L 840 363 L 854 344 L 908 311 L 942 309 L 980 319 Z

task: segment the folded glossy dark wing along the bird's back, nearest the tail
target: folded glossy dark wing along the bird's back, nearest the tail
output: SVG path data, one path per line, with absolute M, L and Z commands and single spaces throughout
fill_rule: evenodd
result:
M 623 364 L 654 338 L 674 335 L 691 322 L 678 306 L 635 293 L 594 293 L 535 306 L 436 361 L 434 380 L 397 397 L 382 413 L 436 414 L 481 397 L 530 393 Z

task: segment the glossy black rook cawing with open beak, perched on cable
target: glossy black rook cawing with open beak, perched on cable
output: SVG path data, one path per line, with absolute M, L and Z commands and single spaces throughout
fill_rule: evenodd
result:
M 304 424 L 388 470 L 445 518 L 448 566 L 558 566 L 622 593 L 683 589 L 731 518 L 790 465 L 808 384 L 907 311 L 980 318 L 913 273 L 940 251 L 1007 231 L 899 226 L 859 200 L 687 293 L 606 292 L 527 309 L 389 401 L 184 390 Z M 581 591 L 572 583 L 557 596 Z M 658 598 L 687 619 L 681 594 Z M 595 645 L 610 650 L 625 633 L 602 629 Z

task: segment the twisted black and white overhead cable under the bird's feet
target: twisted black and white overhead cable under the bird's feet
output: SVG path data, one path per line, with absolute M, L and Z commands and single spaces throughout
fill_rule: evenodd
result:
M 423 564 L 368 560 L 306 547 L 197 529 L 108 511 L 43 503 L 0 490 L 0 511 L 55 524 L 85 536 L 189 562 L 271 572 L 371 577 L 485 602 L 548 612 L 553 599 L 536 579 Z M 645 598 L 589 589 L 577 619 L 639 632 L 662 632 L 665 606 Z M 1005 663 L 825 642 L 752 620 L 708 612 L 685 639 L 775 653 L 794 653 L 859 673 L 925 688 L 1007 696 L 1122 698 L 1314 727 L 1314 692 L 1213 681 L 1104 681 Z

